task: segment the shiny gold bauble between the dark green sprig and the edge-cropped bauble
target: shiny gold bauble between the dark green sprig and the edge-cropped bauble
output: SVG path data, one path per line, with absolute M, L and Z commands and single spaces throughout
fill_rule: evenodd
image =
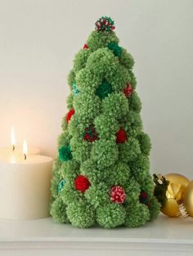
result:
M 161 208 L 161 212 L 169 217 L 177 217 L 179 215 L 178 204 L 182 202 L 184 191 L 190 180 L 178 173 L 168 173 L 164 177 L 169 181 L 169 185 L 166 191 L 167 201 Z

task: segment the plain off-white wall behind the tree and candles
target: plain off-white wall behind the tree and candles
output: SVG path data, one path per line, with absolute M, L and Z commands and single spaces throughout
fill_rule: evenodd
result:
M 136 61 L 151 172 L 193 178 L 192 0 L 0 0 L 0 146 L 14 125 L 17 144 L 56 155 L 67 74 L 103 15 Z

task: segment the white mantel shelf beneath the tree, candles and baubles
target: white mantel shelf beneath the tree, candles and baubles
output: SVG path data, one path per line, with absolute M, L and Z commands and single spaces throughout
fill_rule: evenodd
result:
M 193 218 L 159 215 L 144 227 L 79 229 L 52 218 L 0 220 L 0 256 L 192 256 Z

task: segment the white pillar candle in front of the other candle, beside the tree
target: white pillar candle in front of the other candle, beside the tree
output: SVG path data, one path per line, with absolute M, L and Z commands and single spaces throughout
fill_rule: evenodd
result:
M 52 158 L 44 155 L 0 155 L 0 218 L 49 216 Z

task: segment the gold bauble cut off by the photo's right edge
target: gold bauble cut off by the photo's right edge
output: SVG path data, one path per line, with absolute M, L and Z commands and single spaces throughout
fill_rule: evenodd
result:
M 184 206 L 191 218 L 193 218 L 193 181 L 191 181 L 184 192 Z

